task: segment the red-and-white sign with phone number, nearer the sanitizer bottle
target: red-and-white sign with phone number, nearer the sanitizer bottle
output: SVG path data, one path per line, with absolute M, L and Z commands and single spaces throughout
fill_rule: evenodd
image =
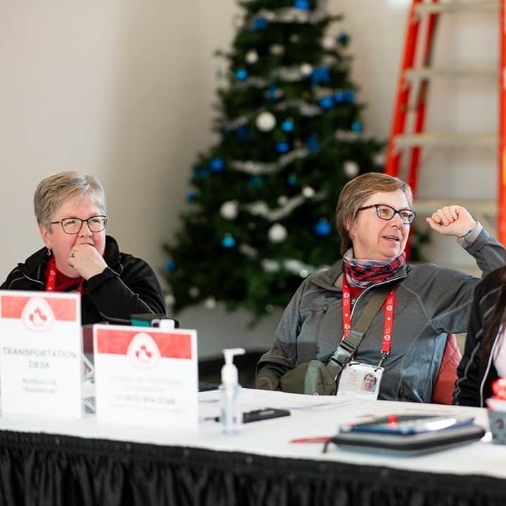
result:
M 197 332 L 93 325 L 98 422 L 197 430 Z

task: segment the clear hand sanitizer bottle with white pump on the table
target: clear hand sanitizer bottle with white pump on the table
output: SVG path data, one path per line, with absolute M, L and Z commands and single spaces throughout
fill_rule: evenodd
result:
M 238 434 L 242 426 L 240 406 L 241 386 L 238 381 L 238 370 L 233 363 L 235 355 L 244 355 L 242 348 L 224 349 L 225 365 L 221 368 L 221 385 L 219 386 L 221 412 L 220 423 L 223 434 Z

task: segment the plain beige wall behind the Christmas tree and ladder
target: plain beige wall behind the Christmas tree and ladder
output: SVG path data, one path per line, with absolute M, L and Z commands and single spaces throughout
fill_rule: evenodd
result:
M 380 138 L 388 135 L 407 4 L 329 3 L 346 15 L 335 30 L 344 27 L 353 37 L 349 52 L 360 99 L 368 103 L 365 123 Z M 108 193 L 109 232 L 124 251 L 163 265 L 160 244 L 186 205 L 191 164 L 212 142 L 222 65 L 212 53 L 229 47 L 235 8 L 235 0 L 0 1 L 2 278 L 41 245 L 33 191 L 41 178 L 64 169 L 96 174 Z M 441 24 L 438 57 L 495 61 L 491 17 L 470 19 Z M 493 84 L 438 86 L 433 112 L 444 114 L 432 115 L 429 124 L 495 129 Z M 420 194 L 493 195 L 493 154 L 432 151 L 428 157 L 432 166 Z M 225 345 L 263 349 L 278 318 L 250 332 L 243 313 L 195 309 L 182 316 L 199 330 L 202 356 Z

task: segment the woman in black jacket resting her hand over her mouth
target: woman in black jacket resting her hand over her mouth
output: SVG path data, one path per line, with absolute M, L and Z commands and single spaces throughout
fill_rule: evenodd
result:
M 153 269 L 105 235 L 105 193 L 94 176 L 65 171 L 39 183 L 34 211 L 45 247 L 18 264 L 1 290 L 79 292 L 82 324 L 129 323 L 165 313 Z

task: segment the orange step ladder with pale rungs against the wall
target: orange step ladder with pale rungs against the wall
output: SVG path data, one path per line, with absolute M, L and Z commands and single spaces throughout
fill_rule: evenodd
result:
M 385 160 L 384 172 L 391 176 L 400 177 L 403 169 L 403 179 L 413 188 L 416 195 L 417 179 L 420 166 L 422 147 L 441 145 L 479 145 L 497 148 L 498 160 L 498 198 L 497 198 L 497 236 L 506 245 L 506 0 L 412 0 L 408 12 L 406 40 L 399 72 L 394 114 L 392 117 L 389 143 Z M 473 9 L 491 10 L 497 15 L 500 23 L 499 30 L 499 122 L 498 134 L 430 134 L 424 131 L 427 115 L 427 97 L 429 82 L 432 77 L 455 77 L 473 73 L 495 73 L 495 69 L 452 69 L 441 70 L 432 68 L 432 51 L 436 25 L 443 13 Z M 422 22 L 426 22 L 427 32 L 422 37 Z M 422 40 L 424 39 L 424 40 Z M 416 60 L 420 59 L 417 65 Z M 419 79 L 418 86 L 414 86 L 415 79 Z M 413 112 L 414 117 L 408 115 Z M 408 129 L 410 131 L 408 131 Z M 403 155 L 409 153 L 409 160 L 403 160 Z M 403 167 L 401 167 L 403 166 Z M 405 167 L 404 167 L 405 166 Z

